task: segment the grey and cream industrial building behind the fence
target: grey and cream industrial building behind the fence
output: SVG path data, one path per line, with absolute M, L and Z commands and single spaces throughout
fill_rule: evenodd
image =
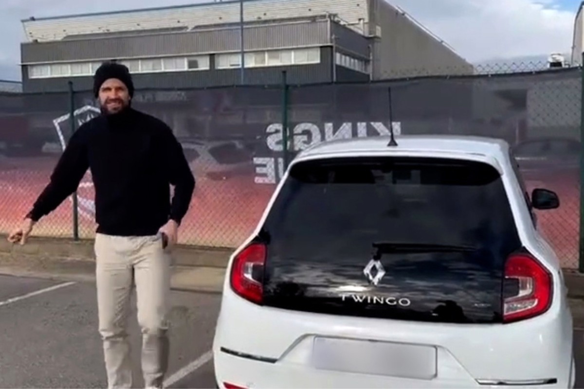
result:
M 244 83 L 368 81 L 468 74 L 472 65 L 385 0 L 245 0 Z M 241 83 L 240 2 L 22 20 L 25 92 L 90 90 L 104 60 L 142 88 Z

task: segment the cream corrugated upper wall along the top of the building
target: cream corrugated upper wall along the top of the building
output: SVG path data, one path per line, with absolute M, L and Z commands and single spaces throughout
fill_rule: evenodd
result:
M 367 18 L 367 0 L 246 0 L 244 20 L 336 13 L 346 22 Z M 60 40 L 74 34 L 204 26 L 239 22 L 239 2 L 205 3 L 157 10 L 133 10 L 102 15 L 54 17 L 23 22 L 27 38 Z

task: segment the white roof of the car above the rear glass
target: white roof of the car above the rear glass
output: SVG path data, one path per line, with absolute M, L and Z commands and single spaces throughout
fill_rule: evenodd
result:
M 465 135 L 399 135 L 395 136 L 398 146 L 388 146 L 390 136 L 370 136 L 366 138 L 336 139 L 317 143 L 299 153 L 297 159 L 312 158 L 331 154 L 391 152 L 454 153 L 461 155 L 481 155 L 496 160 L 507 159 L 509 143 L 502 139 Z

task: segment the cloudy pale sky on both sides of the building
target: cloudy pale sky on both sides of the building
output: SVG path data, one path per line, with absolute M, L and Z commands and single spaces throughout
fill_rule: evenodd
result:
M 331 0 L 333 2 L 334 0 Z M 0 0 L 0 79 L 20 79 L 20 20 L 200 0 Z M 569 53 L 580 0 L 389 0 L 473 63 Z

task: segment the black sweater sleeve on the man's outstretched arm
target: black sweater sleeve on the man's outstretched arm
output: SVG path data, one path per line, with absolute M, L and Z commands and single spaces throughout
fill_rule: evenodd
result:
M 51 174 L 48 185 L 34 202 L 27 217 L 35 222 L 54 211 L 69 195 L 71 195 L 83 178 L 89 167 L 87 146 L 85 142 L 86 128 L 79 127 L 71 136 L 69 144 L 57 162 Z

